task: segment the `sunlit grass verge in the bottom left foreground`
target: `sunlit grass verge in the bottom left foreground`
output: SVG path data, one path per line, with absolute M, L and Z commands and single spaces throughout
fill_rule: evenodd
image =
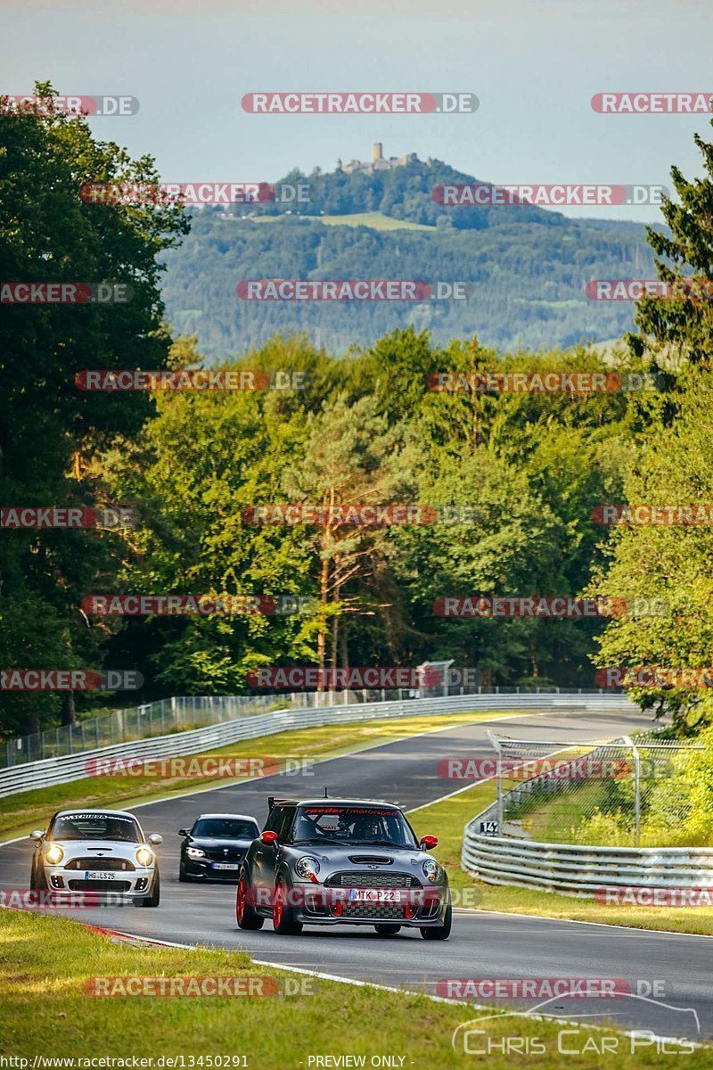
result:
M 374 937 L 376 938 L 376 937 Z M 207 1056 L 247 1056 L 250 1070 L 308 1070 L 309 1056 L 403 1056 L 403 1066 L 449 1068 L 476 1066 L 451 1048 L 452 1030 L 483 1011 L 434 1003 L 425 996 L 402 995 L 311 979 L 312 994 L 266 998 L 204 996 L 96 997 L 87 982 L 96 977 L 272 977 L 278 983 L 298 975 L 250 963 L 246 954 L 199 948 L 144 948 L 114 944 L 104 935 L 59 917 L 16 911 L 0 912 L 0 1054 L 129 1059 L 160 1056 L 203 1056 L 192 1065 L 211 1067 Z M 494 1013 L 497 1013 L 495 1011 Z M 494 1018 L 477 1027 L 489 1037 L 539 1038 L 544 1056 L 503 1055 L 497 1050 L 489 1070 L 506 1067 L 564 1067 L 571 1056 L 558 1055 L 557 1023 L 522 1017 Z M 615 1030 L 607 1030 L 613 1036 Z M 585 1028 L 568 1045 L 588 1044 L 577 1057 L 583 1070 L 601 1067 L 591 1049 L 601 1034 Z M 485 1038 L 479 1037 L 482 1044 Z M 632 1041 L 621 1037 L 622 1054 L 606 1066 L 616 1070 L 670 1067 L 671 1055 L 651 1048 L 631 1054 Z M 77 1067 L 77 1063 L 74 1064 Z M 314 1065 L 314 1064 L 312 1064 Z M 334 1064 L 332 1064 L 334 1065 Z M 397 1064 L 398 1065 L 398 1064 Z M 224 1066 L 224 1064 L 223 1064 Z M 687 1055 L 689 1070 L 710 1066 L 710 1049 Z

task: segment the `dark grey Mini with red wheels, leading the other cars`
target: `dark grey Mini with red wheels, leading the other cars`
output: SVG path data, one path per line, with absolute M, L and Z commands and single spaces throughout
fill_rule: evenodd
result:
M 402 927 L 424 939 L 451 930 L 448 876 L 403 811 L 365 799 L 268 799 L 265 828 L 239 872 L 241 929 L 298 933 L 304 924 L 373 926 L 382 936 Z

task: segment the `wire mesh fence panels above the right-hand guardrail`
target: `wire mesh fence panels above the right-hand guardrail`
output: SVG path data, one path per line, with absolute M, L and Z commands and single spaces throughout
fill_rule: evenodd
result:
M 692 810 L 697 744 L 655 733 L 617 739 L 514 739 L 496 750 L 492 835 L 543 843 L 676 843 Z

